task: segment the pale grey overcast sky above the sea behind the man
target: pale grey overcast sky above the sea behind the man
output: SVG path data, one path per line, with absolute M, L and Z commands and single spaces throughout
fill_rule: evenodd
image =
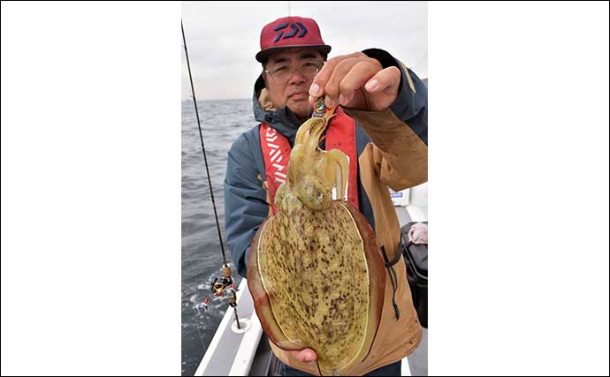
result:
M 291 16 L 316 19 L 330 57 L 385 49 L 428 77 L 427 2 L 184 2 L 182 21 L 197 99 L 250 98 L 261 64 L 263 26 Z M 180 45 L 182 41 L 180 41 Z M 182 97 L 191 95 L 182 50 Z

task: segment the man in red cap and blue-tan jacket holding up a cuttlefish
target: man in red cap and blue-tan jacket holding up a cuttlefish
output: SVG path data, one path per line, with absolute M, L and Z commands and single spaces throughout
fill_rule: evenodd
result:
M 387 260 L 400 257 L 400 226 L 387 186 L 399 191 L 427 181 L 426 87 L 381 49 L 325 62 L 331 46 L 324 43 L 313 19 L 276 19 L 264 26 L 260 42 L 256 60 L 263 64 L 263 72 L 255 82 L 253 101 L 260 124 L 233 143 L 225 178 L 226 237 L 239 274 L 246 276 L 250 244 L 271 212 L 267 203 L 272 203 L 285 177 L 296 131 L 321 96 L 327 106 L 341 105 L 328 130 L 342 124 L 347 130 L 339 133 L 346 135 L 342 143 L 355 151 L 350 159 L 350 171 L 355 172 L 350 200 L 375 230 Z M 270 160 L 279 152 L 268 149 L 269 135 L 274 140 L 271 147 L 284 146 L 282 164 Z M 421 340 L 404 263 L 385 272 L 385 304 L 375 342 L 364 362 L 347 374 L 400 375 L 400 360 Z M 271 348 L 286 364 L 286 375 L 317 374 L 313 350 L 282 351 L 272 343 Z

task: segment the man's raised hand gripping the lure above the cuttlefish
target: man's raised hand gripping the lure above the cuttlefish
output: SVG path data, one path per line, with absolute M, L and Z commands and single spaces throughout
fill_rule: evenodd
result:
M 380 111 L 398 96 L 400 70 L 383 68 L 377 59 L 362 52 L 333 57 L 317 74 L 309 88 L 309 103 L 326 94 L 326 106 L 340 104 L 351 109 Z

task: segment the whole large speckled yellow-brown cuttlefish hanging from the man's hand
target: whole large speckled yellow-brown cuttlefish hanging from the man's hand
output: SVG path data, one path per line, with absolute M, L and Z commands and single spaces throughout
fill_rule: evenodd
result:
M 367 358 L 385 289 L 373 230 L 343 199 L 347 156 L 318 147 L 334 116 L 335 108 L 326 109 L 301 124 L 275 196 L 278 211 L 248 254 L 248 288 L 263 330 L 283 350 L 316 351 L 323 375 L 348 373 Z

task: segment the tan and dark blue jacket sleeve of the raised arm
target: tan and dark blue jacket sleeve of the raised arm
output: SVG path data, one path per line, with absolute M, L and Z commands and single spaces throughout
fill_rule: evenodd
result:
M 383 111 L 345 109 L 373 141 L 381 181 L 394 191 L 428 180 L 428 90 L 416 74 L 382 49 L 363 51 L 384 68 L 400 69 L 396 101 Z

